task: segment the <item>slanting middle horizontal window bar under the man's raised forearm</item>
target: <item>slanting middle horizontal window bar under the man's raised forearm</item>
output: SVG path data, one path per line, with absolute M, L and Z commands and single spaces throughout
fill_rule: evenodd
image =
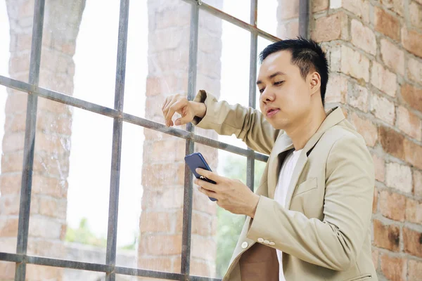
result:
M 90 112 L 95 112 L 95 113 L 105 115 L 108 117 L 121 117 L 124 122 L 129 122 L 138 126 L 143 126 L 144 128 L 147 128 L 147 129 L 153 129 L 155 131 L 167 133 L 168 135 L 177 136 L 178 138 L 190 139 L 196 143 L 208 145 L 212 148 L 226 150 L 228 152 L 235 153 L 237 155 L 242 155 L 246 157 L 255 155 L 255 159 L 262 162 L 267 162 L 268 160 L 267 155 L 262 155 L 260 153 L 254 152 L 253 150 L 238 148 L 237 146 L 229 145 L 228 143 L 222 143 L 220 141 L 216 141 L 211 138 L 205 138 L 204 136 L 198 136 L 194 133 L 190 133 L 185 130 L 166 127 L 163 124 L 153 122 L 151 120 L 137 117 L 134 115 L 129 115 L 127 113 L 119 113 L 117 110 L 114 110 L 113 108 L 105 107 L 102 105 L 96 105 L 95 103 L 89 103 L 85 100 L 80 100 L 72 96 L 67 96 L 63 93 L 58 93 L 55 91 L 51 91 L 48 89 L 30 85 L 23 81 L 18 81 L 18 80 L 0 75 L 0 85 L 7 86 L 18 91 L 30 92 L 33 95 L 41 96 L 42 98 L 54 100 L 58 103 L 64 103 L 65 105 L 79 107 L 79 108 L 82 108 L 83 110 L 88 110 Z

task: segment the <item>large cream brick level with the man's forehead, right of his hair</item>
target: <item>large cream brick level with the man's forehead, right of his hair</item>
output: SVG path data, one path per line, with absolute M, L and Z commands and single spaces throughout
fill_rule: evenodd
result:
M 341 46 L 341 72 L 369 81 L 369 59 L 358 51 Z

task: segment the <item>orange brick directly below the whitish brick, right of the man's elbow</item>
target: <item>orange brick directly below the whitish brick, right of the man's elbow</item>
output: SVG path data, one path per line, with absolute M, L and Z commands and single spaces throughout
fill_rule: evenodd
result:
M 406 197 L 388 190 L 380 191 L 380 211 L 383 216 L 395 221 L 404 221 Z

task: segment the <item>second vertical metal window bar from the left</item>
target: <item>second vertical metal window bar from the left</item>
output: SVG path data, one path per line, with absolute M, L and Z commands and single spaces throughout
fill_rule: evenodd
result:
M 124 78 L 126 73 L 127 29 L 129 24 L 129 0 L 120 1 L 119 38 L 115 81 L 115 110 L 123 112 Z M 113 147 L 110 173 L 110 198 L 108 204 L 108 233 L 106 264 L 113 270 L 106 275 L 107 281 L 115 281 L 117 218 L 119 214 L 120 162 L 122 157 L 122 115 L 113 121 Z

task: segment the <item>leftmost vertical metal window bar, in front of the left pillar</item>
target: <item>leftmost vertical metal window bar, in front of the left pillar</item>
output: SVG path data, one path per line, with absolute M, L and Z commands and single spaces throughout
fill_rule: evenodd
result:
M 32 23 L 32 44 L 30 58 L 30 84 L 38 85 L 39 65 L 41 61 L 42 27 L 44 25 L 44 0 L 36 0 Z M 25 146 L 23 149 L 22 183 L 20 187 L 20 206 L 18 221 L 18 241 L 16 254 L 26 254 L 28 230 L 30 227 L 30 207 L 32 190 L 32 168 L 34 165 L 35 131 L 37 129 L 38 98 L 31 93 L 27 98 L 27 116 L 25 125 Z M 16 263 L 15 281 L 25 281 L 26 263 Z

